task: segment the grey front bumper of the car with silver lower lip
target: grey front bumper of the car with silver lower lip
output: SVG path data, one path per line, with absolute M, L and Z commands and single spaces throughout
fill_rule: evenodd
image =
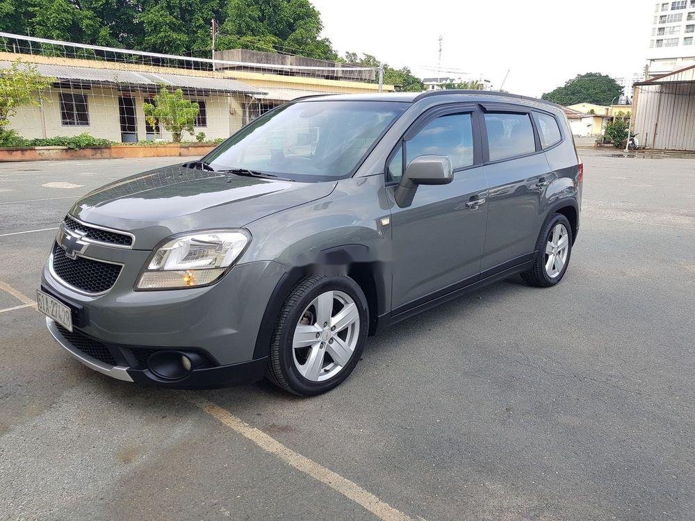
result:
M 104 256 L 111 251 L 104 249 Z M 118 351 L 109 363 L 90 356 L 74 338 L 66 338 L 56 324 L 47 322 L 54 338 L 81 363 L 123 381 L 177 388 L 224 386 L 263 377 L 267 359 L 254 358 L 254 349 L 266 307 L 284 275 L 283 265 L 272 261 L 235 265 L 220 281 L 204 288 L 134 291 L 147 252 L 117 253 L 127 256 L 119 261 L 123 270 L 103 295 L 75 291 L 54 276 L 48 265 L 42 290 L 70 306 L 76 331 L 97 342 L 120 346 L 124 352 L 191 349 L 208 354 L 214 363 L 194 368 L 185 379 L 167 381 L 142 363 L 130 363 L 132 357 L 117 356 Z M 101 254 L 96 257 L 102 258 Z

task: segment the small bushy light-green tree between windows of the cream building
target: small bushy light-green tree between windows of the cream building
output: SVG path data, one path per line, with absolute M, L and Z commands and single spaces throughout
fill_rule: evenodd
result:
M 181 89 L 171 92 L 166 87 L 162 87 L 152 101 L 154 104 L 142 104 L 147 123 L 155 128 L 157 124 L 161 124 L 171 133 L 174 143 L 181 142 L 183 131 L 193 135 L 193 125 L 199 106 L 195 101 L 183 99 Z

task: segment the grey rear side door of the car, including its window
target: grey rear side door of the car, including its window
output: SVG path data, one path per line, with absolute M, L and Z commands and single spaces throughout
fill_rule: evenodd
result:
M 541 227 L 550 168 L 528 107 L 484 104 L 483 154 L 490 190 L 484 275 L 527 261 Z

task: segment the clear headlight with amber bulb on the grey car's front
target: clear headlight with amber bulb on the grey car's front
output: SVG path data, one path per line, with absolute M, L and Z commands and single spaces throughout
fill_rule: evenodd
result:
M 149 259 L 138 290 L 195 288 L 213 283 L 242 254 L 251 235 L 246 230 L 214 230 L 172 238 Z

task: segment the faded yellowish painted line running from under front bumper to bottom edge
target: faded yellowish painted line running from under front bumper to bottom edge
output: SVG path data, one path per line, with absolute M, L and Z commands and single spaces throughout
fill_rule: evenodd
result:
M 238 417 L 227 411 L 227 409 L 217 406 L 198 395 L 189 395 L 188 399 L 191 403 L 195 404 L 199 408 L 202 408 L 203 411 L 220 421 L 222 424 L 241 434 L 241 436 L 244 436 L 248 440 L 251 440 L 265 452 L 274 454 L 291 467 L 294 467 L 300 472 L 304 472 L 304 474 L 313 477 L 313 479 L 316 479 L 316 481 L 324 483 L 333 490 L 336 490 L 336 492 L 347 497 L 347 499 L 352 499 L 352 501 L 363 506 L 368 511 L 376 515 L 377 518 L 384 521 L 411 521 L 411 518 L 409 518 L 408 515 L 396 510 L 388 503 L 383 502 L 372 493 L 364 490 L 357 483 L 354 483 L 353 481 L 342 477 L 340 474 L 336 474 L 336 472 L 319 465 L 316 463 L 316 461 L 312 461 L 309 458 L 306 458 L 306 456 L 302 456 L 302 454 L 285 447 L 278 440 L 272 438 L 272 436 L 268 436 L 268 434 L 264 433 L 260 429 L 256 429 L 256 427 L 252 427 L 251 425 L 243 422 Z

